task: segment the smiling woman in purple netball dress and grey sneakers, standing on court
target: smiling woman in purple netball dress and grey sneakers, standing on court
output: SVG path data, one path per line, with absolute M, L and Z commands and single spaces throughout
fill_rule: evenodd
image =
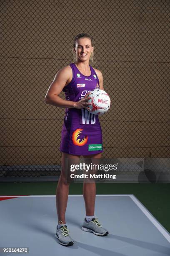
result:
M 103 90 L 102 73 L 92 68 L 89 62 L 93 56 L 92 37 L 81 33 L 75 36 L 73 44 L 73 54 L 76 56 L 75 63 L 60 69 L 50 85 L 45 96 L 47 104 L 66 108 L 64 124 L 62 127 L 62 138 L 60 151 L 62 152 L 62 172 L 56 189 L 56 206 L 58 215 L 58 225 L 56 238 L 64 246 L 74 243 L 69 236 L 69 231 L 65 222 L 65 211 L 69 192 L 69 182 L 65 173 L 65 160 L 79 161 L 82 155 L 85 159 L 101 158 L 102 154 L 102 131 L 97 115 L 90 114 L 87 100 L 89 92 L 95 87 Z M 60 92 L 65 92 L 66 100 L 61 99 Z M 94 151 L 90 146 L 100 147 Z M 85 200 L 86 216 L 82 225 L 82 230 L 93 232 L 95 235 L 106 236 L 107 230 L 102 228 L 94 216 L 95 211 L 95 182 L 84 182 L 83 196 Z

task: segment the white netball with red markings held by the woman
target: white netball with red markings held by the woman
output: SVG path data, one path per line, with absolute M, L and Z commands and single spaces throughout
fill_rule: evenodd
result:
M 107 92 L 95 89 L 90 92 L 88 97 L 91 97 L 91 99 L 87 100 L 87 102 L 92 103 L 92 105 L 88 105 L 90 113 L 100 115 L 110 108 L 110 97 Z

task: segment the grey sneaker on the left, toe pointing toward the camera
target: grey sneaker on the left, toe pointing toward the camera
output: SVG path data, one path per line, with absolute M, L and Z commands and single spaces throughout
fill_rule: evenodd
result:
M 61 223 L 60 223 L 61 222 Z M 69 230 L 67 225 L 64 225 L 62 221 L 59 221 L 59 224 L 62 225 L 61 228 L 57 228 L 55 237 L 58 239 L 59 243 L 63 246 L 71 246 L 74 244 L 74 241 L 69 236 Z

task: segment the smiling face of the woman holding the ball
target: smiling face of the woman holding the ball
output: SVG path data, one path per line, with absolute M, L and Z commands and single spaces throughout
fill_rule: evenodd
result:
M 93 51 L 90 38 L 79 38 L 75 45 L 77 59 L 87 61 L 90 59 L 90 54 Z

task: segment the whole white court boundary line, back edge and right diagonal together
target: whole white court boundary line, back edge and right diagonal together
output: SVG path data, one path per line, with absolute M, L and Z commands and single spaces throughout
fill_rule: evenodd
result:
M 69 195 L 69 197 L 82 197 L 83 195 Z M 140 208 L 140 210 L 145 214 L 145 216 L 153 223 L 153 225 L 160 231 L 160 233 L 166 238 L 170 243 L 170 233 L 155 219 L 155 217 L 149 212 L 149 210 L 138 200 L 137 197 L 132 195 L 96 195 L 96 197 L 130 197 L 131 200 Z M 0 197 L 55 197 L 55 195 L 28 195 L 28 196 L 0 196 Z

